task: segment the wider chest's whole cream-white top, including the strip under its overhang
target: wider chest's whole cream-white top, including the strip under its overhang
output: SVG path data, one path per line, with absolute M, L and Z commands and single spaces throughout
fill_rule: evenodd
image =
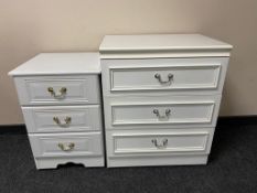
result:
M 232 45 L 201 34 L 106 35 L 100 58 L 229 56 Z

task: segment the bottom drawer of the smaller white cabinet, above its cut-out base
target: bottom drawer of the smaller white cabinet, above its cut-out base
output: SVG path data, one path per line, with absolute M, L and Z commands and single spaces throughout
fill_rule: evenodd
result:
M 29 135 L 35 158 L 103 154 L 100 132 Z

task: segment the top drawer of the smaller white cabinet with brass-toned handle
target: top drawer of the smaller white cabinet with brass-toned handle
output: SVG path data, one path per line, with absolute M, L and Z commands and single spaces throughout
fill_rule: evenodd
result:
M 98 104 L 99 77 L 28 76 L 14 77 L 21 105 Z

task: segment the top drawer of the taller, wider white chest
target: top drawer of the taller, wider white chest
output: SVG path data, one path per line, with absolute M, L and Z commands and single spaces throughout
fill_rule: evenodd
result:
M 228 57 L 101 60 L 105 95 L 221 92 Z

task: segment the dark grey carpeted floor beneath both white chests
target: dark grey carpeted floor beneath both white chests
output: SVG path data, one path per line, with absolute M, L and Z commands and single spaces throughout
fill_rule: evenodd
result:
M 36 171 L 25 135 L 0 135 L 1 193 L 257 193 L 257 125 L 218 126 L 207 165 Z

